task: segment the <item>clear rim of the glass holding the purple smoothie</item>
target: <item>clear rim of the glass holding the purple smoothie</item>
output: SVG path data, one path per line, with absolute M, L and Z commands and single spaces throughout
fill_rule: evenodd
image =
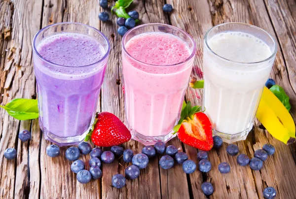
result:
M 105 55 L 98 61 L 92 63 L 92 64 L 89 64 L 89 65 L 83 65 L 83 66 L 64 66 L 64 65 L 59 65 L 59 64 L 55 64 L 53 62 L 50 62 L 48 60 L 46 60 L 45 58 L 43 58 L 39 52 L 37 51 L 37 47 L 36 47 L 36 38 L 37 36 L 42 33 L 45 29 L 48 29 L 52 26 L 55 26 L 55 25 L 61 25 L 61 24 L 75 24 L 75 25 L 79 25 L 79 26 L 84 26 L 84 27 L 87 27 L 89 29 L 92 29 L 94 30 L 95 32 L 99 33 L 101 36 L 103 36 L 103 38 L 105 39 L 105 41 L 107 42 L 107 45 L 108 45 L 108 49 L 107 49 L 107 52 L 105 53 Z M 67 32 L 65 32 L 67 33 Z M 110 42 L 108 40 L 108 38 L 105 36 L 105 34 L 103 34 L 101 31 L 99 31 L 98 29 L 92 27 L 92 26 L 89 26 L 89 25 L 86 25 L 86 24 L 82 24 L 82 23 L 77 23 L 77 22 L 60 22 L 60 23 L 55 23 L 55 24 L 51 24 L 51 25 L 48 25 L 48 26 L 45 26 L 44 28 L 40 29 L 33 37 L 33 52 L 35 52 L 37 54 L 37 56 L 44 62 L 46 62 L 47 64 L 50 64 L 50 65 L 54 65 L 54 66 L 60 66 L 60 67 L 70 67 L 70 68 L 81 68 L 81 67 L 89 67 L 89 66 L 94 66 L 96 64 L 99 64 L 101 63 L 102 61 L 104 61 L 109 53 L 110 53 L 110 49 L 111 49 L 111 46 L 110 46 Z

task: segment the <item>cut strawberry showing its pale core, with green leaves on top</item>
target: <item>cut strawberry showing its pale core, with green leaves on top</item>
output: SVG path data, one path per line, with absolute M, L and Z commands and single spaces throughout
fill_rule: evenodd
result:
M 183 104 L 181 119 L 174 128 L 179 139 L 194 148 L 209 151 L 213 148 L 212 124 L 200 106 L 191 108 L 190 101 Z

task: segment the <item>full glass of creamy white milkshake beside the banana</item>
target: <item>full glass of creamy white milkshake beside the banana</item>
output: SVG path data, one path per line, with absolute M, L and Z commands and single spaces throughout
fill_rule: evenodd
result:
M 227 143 L 246 139 L 276 52 L 271 35 L 249 24 L 220 24 L 206 33 L 203 106 L 214 135 Z

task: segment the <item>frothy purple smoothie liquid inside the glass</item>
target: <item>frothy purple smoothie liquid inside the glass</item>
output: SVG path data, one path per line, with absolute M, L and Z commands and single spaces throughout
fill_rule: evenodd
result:
M 63 66 L 34 59 L 40 127 L 58 137 L 85 133 L 96 110 L 107 62 L 86 65 L 99 61 L 106 54 L 104 48 L 90 36 L 59 33 L 43 39 L 37 51 L 43 59 Z

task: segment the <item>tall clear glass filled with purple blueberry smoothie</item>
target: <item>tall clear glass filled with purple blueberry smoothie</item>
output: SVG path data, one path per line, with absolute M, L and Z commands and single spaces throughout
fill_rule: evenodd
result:
M 58 145 L 82 141 L 94 121 L 110 44 L 97 29 L 58 23 L 33 39 L 39 125 Z

